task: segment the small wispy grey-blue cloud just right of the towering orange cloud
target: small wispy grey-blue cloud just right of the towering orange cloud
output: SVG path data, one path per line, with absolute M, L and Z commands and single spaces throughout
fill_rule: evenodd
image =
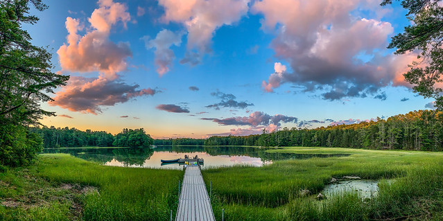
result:
M 175 59 L 174 52 L 171 46 L 180 46 L 182 44 L 183 33 L 173 33 L 171 30 L 163 29 L 157 33 L 155 39 L 149 40 L 149 36 L 144 36 L 145 46 L 147 49 L 155 48 L 155 64 L 157 65 L 157 73 L 159 76 L 169 71 L 173 60 Z

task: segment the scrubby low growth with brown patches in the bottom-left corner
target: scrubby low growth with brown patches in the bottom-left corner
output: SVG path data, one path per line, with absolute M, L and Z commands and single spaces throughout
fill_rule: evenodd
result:
M 28 166 L 0 173 L 0 220 L 78 220 L 76 210 L 87 193 L 80 186 L 48 182 L 36 170 Z

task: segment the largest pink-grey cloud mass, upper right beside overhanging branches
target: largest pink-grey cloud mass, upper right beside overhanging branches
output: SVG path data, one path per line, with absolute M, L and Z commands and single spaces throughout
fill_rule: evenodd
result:
M 324 99 L 376 95 L 388 85 L 410 87 L 402 73 L 417 58 L 415 53 L 385 55 L 394 28 L 385 21 L 361 18 L 359 11 L 379 7 L 378 2 L 263 0 L 252 12 L 264 16 L 262 28 L 275 33 L 270 44 L 276 57 L 275 71 L 262 82 L 272 92 L 290 82 L 306 91 L 324 91 Z

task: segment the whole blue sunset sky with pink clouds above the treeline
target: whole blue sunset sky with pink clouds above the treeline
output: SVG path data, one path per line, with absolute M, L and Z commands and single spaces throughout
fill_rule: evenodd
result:
M 68 85 L 46 126 L 156 139 L 261 134 L 433 108 L 394 55 L 410 24 L 375 0 L 48 0 L 24 25 Z

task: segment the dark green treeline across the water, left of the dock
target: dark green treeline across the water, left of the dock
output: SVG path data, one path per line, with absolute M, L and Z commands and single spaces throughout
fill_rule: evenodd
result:
M 105 131 L 81 131 L 76 128 L 31 127 L 31 132 L 39 134 L 44 148 L 98 147 L 140 147 L 153 144 L 153 139 L 141 129 L 123 129 L 115 136 Z

